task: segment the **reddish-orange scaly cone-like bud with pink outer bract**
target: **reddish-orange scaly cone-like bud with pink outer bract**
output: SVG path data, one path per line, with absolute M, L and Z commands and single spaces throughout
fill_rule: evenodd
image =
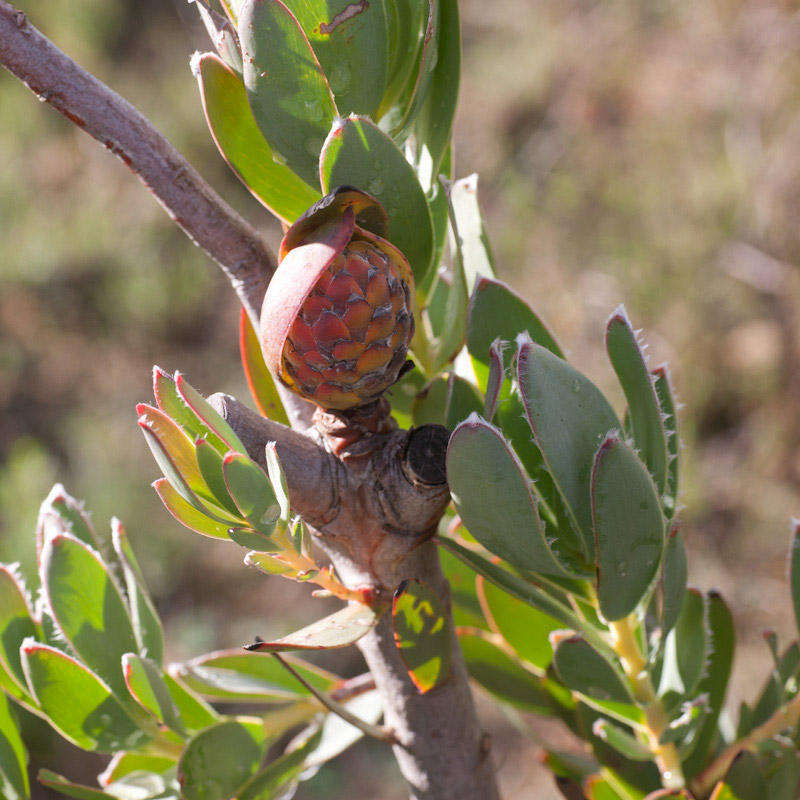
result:
M 272 373 L 322 408 L 371 402 L 405 363 L 414 279 L 406 257 L 380 235 L 385 227 L 377 200 L 340 187 L 281 242 L 261 347 Z

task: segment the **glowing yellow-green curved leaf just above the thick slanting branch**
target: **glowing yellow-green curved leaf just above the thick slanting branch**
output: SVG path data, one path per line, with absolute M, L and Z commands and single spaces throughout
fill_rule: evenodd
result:
M 196 58 L 192 66 L 206 121 L 220 154 L 272 214 L 284 222 L 294 222 L 321 198 L 316 174 L 309 186 L 273 157 L 235 72 L 211 53 Z

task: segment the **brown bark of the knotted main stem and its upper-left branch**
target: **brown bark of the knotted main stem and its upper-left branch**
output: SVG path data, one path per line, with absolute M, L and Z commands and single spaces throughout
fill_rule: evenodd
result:
M 223 269 L 253 323 L 275 263 L 258 233 L 231 209 L 140 114 L 0 0 L 0 64 L 41 99 L 130 167 L 170 217 Z M 311 407 L 284 393 L 295 430 L 248 411 L 233 398 L 214 404 L 264 463 L 276 441 L 295 510 L 315 528 L 351 588 L 386 597 L 419 578 L 448 601 L 435 546 L 427 541 L 448 502 L 441 431 L 366 433 L 344 451 L 308 430 Z M 438 442 L 438 444 L 437 444 Z M 437 460 L 438 459 L 438 460 Z M 449 602 L 447 602 L 449 608 Z M 384 616 L 359 644 L 381 690 L 386 721 L 415 800 L 495 800 L 497 788 L 463 658 L 453 639 L 453 672 L 421 695 L 403 667 Z

